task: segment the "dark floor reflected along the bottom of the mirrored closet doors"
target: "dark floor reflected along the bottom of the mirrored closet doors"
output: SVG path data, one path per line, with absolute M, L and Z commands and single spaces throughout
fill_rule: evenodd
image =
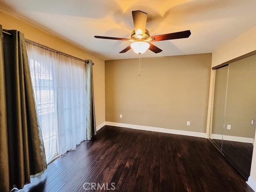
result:
M 222 140 L 213 140 L 221 146 Z M 252 164 L 253 144 L 223 140 L 222 153 L 232 162 L 232 164 L 244 175 L 249 178 Z

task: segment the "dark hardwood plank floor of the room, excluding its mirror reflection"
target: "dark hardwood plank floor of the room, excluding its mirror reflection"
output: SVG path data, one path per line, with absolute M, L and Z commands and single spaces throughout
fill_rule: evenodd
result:
M 54 160 L 20 191 L 90 191 L 85 182 L 114 182 L 124 192 L 252 192 L 207 139 L 113 126 Z

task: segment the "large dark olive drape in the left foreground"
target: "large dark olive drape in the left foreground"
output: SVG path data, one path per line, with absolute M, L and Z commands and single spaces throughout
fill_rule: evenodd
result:
M 47 167 L 24 35 L 0 25 L 0 191 L 23 188 Z

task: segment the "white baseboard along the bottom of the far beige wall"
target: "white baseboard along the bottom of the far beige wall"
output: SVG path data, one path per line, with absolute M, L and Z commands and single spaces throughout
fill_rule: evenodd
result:
M 154 131 L 154 132 L 161 132 L 161 133 L 170 133 L 170 134 L 177 134 L 177 135 L 186 135 L 186 136 L 206 138 L 206 133 L 202 133 L 202 132 L 183 131 L 183 130 L 143 126 L 143 125 L 116 123 L 116 122 L 106 122 L 106 125 L 125 127 L 125 128 L 131 128 L 131 129 L 139 129 L 139 130 L 145 130 L 145 131 Z

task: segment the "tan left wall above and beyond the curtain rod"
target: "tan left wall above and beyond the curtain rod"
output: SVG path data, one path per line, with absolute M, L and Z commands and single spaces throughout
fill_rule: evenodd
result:
M 24 33 L 25 38 L 46 45 L 50 48 L 76 56 L 82 59 L 91 59 L 94 62 L 93 80 L 96 125 L 105 122 L 105 62 L 104 60 L 90 54 L 90 52 L 57 36 L 49 34 L 26 22 L 23 22 L 9 14 L 0 11 L 0 24 L 4 29 L 16 29 Z

